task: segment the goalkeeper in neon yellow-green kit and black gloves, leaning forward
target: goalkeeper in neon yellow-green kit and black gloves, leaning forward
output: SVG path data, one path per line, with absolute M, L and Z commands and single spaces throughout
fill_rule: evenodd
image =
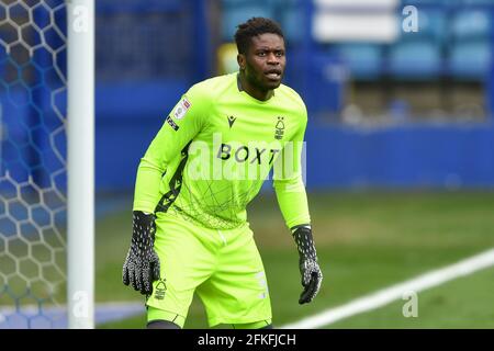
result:
M 281 84 L 279 25 L 252 18 L 235 34 L 239 71 L 189 89 L 141 160 L 123 282 L 147 295 L 148 328 L 182 328 L 194 292 L 210 326 L 272 328 L 265 269 L 246 206 L 273 169 L 273 186 L 299 252 L 310 303 L 317 263 L 301 149 L 302 99 Z

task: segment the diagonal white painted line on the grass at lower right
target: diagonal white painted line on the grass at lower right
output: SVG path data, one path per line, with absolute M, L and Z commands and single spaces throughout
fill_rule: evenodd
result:
M 372 294 L 350 301 L 339 307 L 329 308 L 315 316 L 282 326 L 281 328 L 313 329 L 324 327 L 335 321 L 377 309 L 392 303 L 395 299 L 401 299 L 404 293 L 411 291 L 418 293 L 492 265 L 494 265 L 494 248 L 471 258 L 461 260 L 458 263 L 430 271 L 429 273 L 422 274 L 406 282 L 392 285 Z

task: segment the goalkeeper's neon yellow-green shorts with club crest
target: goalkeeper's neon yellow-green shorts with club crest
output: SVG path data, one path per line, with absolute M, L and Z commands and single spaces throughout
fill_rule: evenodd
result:
M 148 321 L 183 327 L 194 292 L 210 327 L 271 319 L 265 269 L 248 224 L 231 230 L 200 227 L 178 215 L 157 213 L 155 250 L 160 279 L 148 296 Z

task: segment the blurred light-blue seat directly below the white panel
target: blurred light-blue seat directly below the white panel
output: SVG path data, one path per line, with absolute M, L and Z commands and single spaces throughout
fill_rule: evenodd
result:
M 340 44 L 338 56 L 348 65 L 351 76 L 359 80 L 372 80 L 382 70 L 382 49 L 378 44 Z

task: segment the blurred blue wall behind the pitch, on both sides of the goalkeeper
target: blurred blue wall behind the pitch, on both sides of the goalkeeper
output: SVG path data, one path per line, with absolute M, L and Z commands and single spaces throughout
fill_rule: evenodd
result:
M 133 189 L 139 158 L 168 113 L 160 106 L 171 109 L 188 88 L 179 81 L 138 87 L 133 82 L 97 89 L 96 176 L 100 191 Z M 491 124 L 370 129 L 310 123 L 306 140 L 310 189 L 494 186 Z

